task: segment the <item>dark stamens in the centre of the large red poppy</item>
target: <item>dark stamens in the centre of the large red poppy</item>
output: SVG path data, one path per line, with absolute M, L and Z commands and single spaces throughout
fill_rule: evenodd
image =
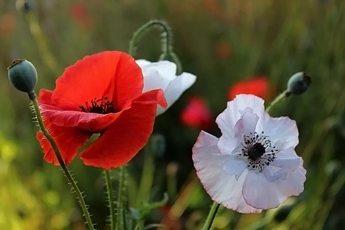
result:
M 108 101 L 107 97 L 102 97 L 101 99 L 94 98 L 91 100 L 91 105 L 89 106 L 88 101 L 85 102 L 84 106 L 79 106 L 82 112 L 87 113 L 116 113 L 117 110 L 112 101 Z

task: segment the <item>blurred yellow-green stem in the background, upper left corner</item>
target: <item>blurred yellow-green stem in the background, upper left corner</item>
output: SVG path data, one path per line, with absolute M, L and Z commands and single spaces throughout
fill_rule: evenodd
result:
M 38 19 L 33 12 L 26 13 L 26 19 L 29 23 L 31 34 L 34 40 L 37 43 L 38 51 L 41 54 L 43 62 L 45 62 L 46 66 L 50 69 L 50 71 L 55 74 L 55 76 L 60 75 L 60 71 L 58 68 L 58 62 L 52 56 L 48 49 L 47 40 L 42 32 L 42 29 L 38 23 Z

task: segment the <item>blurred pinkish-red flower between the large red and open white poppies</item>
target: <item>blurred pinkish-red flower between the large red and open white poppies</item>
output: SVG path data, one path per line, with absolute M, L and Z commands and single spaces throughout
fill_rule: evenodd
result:
M 181 113 L 181 121 L 187 126 L 207 128 L 212 122 L 212 113 L 203 99 L 192 97 Z

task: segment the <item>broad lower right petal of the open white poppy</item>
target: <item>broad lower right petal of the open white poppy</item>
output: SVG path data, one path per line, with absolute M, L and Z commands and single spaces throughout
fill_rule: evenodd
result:
M 304 190 L 305 174 L 302 158 L 299 167 L 288 172 L 285 180 L 269 182 L 264 173 L 249 171 L 243 184 L 243 197 L 254 208 L 276 208 L 288 197 L 298 196 Z

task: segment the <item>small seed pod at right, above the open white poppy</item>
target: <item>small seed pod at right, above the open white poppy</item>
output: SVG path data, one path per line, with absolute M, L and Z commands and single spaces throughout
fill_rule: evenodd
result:
M 300 95 L 304 93 L 312 83 L 312 79 L 305 72 L 295 73 L 287 82 L 287 96 L 291 94 Z

